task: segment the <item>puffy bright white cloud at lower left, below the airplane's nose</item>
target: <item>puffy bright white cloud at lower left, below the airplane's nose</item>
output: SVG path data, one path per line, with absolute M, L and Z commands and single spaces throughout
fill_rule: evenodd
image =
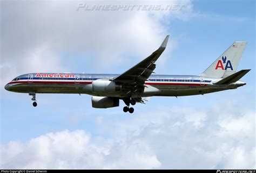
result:
M 1 146 L 1 168 L 24 169 L 109 169 L 159 167 L 146 143 L 116 142 L 109 148 L 96 145 L 83 130 L 48 133 L 27 143 L 9 142 Z

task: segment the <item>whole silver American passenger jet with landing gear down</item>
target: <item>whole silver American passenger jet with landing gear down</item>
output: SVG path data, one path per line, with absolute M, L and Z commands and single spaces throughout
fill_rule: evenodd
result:
M 116 107 L 123 100 L 123 111 L 133 113 L 130 105 L 145 103 L 152 96 L 204 95 L 246 84 L 239 80 L 251 69 L 235 72 L 245 41 L 235 41 L 199 75 L 152 75 L 168 39 L 169 35 L 156 51 L 123 74 L 30 73 L 15 77 L 4 88 L 29 93 L 35 107 L 36 93 L 74 93 L 91 95 L 95 108 Z

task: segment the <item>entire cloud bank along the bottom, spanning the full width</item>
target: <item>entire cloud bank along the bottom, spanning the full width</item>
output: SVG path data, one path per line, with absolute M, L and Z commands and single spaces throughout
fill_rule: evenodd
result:
M 0 167 L 255 169 L 255 112 L 241 106 L 158 107 L 131 119 L 96 121 L 108 138 L 65 130 L 11 141 L 1 145 Z

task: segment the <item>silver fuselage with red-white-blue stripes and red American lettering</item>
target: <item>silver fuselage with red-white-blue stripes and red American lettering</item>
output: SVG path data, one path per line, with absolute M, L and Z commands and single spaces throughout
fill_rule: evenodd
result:
M 71 74 L 71 73 L 32 73 L 16 77 L 5 85 L 5 89 L 22 93 L 78 93 L 104 97 L 127 97 L 125 88 L 117 92 L 95 93 L 92 82 L 111 81 L 118 74 Z M 235 89 L 245 85 L 237 81 L 227 85 L 216 85 L 221 78 L 208 78 L 196 75 L 151 75 L 145 81 L 143 92 L 134 92 L 132 97 L 149 96 L 190 96 Z

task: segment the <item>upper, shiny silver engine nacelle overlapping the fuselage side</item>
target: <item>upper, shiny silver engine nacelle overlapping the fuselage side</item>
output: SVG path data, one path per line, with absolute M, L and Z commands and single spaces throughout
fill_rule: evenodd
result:
M 110 93 L 120 91 L 122 86 L 116 82 L 108 80 L 92 81 L 92 92 L 94 93 Z

